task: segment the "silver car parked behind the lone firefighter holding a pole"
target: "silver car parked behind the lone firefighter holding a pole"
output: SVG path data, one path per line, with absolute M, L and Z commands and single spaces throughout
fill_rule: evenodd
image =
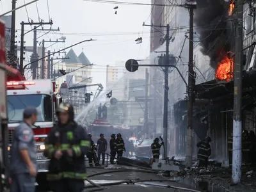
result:
M 141 143 L 136 145 L 135 156 L 138 157 L 152 157 L 151 144 L 154 142 L 152 139 L 142 140 Z

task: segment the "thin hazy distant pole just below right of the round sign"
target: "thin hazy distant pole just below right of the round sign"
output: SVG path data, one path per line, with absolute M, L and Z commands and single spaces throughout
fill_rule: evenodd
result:
M 144 110 L 144 132 L 145 138 L 148 137 L 148 68 L 145 70 L 145 110 Z

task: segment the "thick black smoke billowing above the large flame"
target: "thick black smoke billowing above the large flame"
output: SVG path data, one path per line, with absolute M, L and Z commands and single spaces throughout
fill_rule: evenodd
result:
M 196 2 L 194 22 L 195 31 L 202 40 L 201 51 L 212 61 L 220 61 L 232 48 L 232 38 L 229 38 L 232 31 L 231 22 L 228 21 L 230 3 L 224 0 L 197 0 Z M 216 67 L 216 62 L 211 62 L 211 66 Z

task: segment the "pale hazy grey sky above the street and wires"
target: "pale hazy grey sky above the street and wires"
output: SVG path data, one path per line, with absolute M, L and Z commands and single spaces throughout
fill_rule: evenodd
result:
M 0 13 L 8 12 L 12 9 L 12 0 L 0 1 Z M 29 3 L 31 0 L 18 0 L 17 7 Z M 116 0 L 124 1 L 124 0 Z M 125 0 L 125 2 L 150 3 L 150 0 Z M 59 43 L 49 47 L 54 49 L 63 49 L 72 44 L 76 44 L 86 39 L 97 39 L 95 42 L 88 42 L 73 47 L 76 54 L 84 51 L 93 67 L 93 83 L 103 83 L 106 81 L 106 65 L 115 65 L 115 61 L 128 60 L 130 58 L 143 59 L 149 54 L 149 36 L 150 28 L 143 27 L 142 24 L 150 24 L 150 6 L 125 5 L 125 4 L 107 4 L 95 3 L 83 0 L 40 0 L 29 4 L 26 8 L 21 8 L 16 12 L 17 41 L 20 40 L 20 22 L 33 20 L 38 22 L 38 15 L 44 22 L 49 18 L 53 21 L 53 29 L 60 28 L 57 33 L 38 32 L 38 43 L 45 40 L 56 40 L 60 36 L 66 36 L 66 43 Z M 117 15 L 115 15 L 115 6 L 118 6 Z M 38 10 L 38 11 L 37 11 Z M 50 26 L 44 26 L 49 29 Z M 26 26 L 25 30 L 31 29 Z M 140 36 L 143 43 L 136 45 L 134 40 Z M 33 32 L 25 36 L 26 45 L 33 45 Z M 45 47 L 51 45 L 45 43 Z M 31 53 L 26 54 L 28 60 Z M 120 67 L 118 67 L 120 68 Z M 121 70 L 121 68 L 120 68 Z

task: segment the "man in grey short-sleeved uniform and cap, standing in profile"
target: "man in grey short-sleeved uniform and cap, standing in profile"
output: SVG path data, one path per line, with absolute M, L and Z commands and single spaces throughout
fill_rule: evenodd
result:
M 33 192 L 36 182 L 36 146 L 32 125 L 37 120 L 35 108 L 26 108 L 23 122 L 15 128 L 11 148 L 10 192 Z

